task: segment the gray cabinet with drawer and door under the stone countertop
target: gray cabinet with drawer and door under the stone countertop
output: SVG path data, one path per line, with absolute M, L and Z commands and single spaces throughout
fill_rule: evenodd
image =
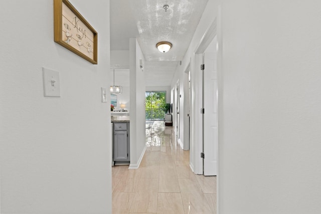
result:
M 129 161 L 129 123 L 114 122 L 113 160 Z

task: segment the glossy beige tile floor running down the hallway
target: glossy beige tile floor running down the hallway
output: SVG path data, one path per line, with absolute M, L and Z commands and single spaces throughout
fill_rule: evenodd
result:
M 196 175 L 172 126 L 146 121 L 139 169 L 112 167 L 112 213 L 216 213 L 216 176 Z

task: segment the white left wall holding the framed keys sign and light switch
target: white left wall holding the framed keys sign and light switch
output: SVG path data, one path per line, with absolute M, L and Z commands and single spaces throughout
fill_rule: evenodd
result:
M 53 1 L 1 1 L 1 213 L 111 213 L 109 1 L 71 0 L 98 32 L 98 65 L 54 42 Z M 61 97 L 43 96 L 42 67 Z

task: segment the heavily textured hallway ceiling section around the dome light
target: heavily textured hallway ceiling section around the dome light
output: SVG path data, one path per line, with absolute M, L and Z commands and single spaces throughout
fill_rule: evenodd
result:
M 206 3 L 204 0 L 130 1 L 139 33 L 138 43 L 145 60 L 183 60 Z M 165 4 L 169 5 L 167 12 L 163 9 Z M 156 49 L 156 43 L 161 41 L 173 44 L 168 53 Z

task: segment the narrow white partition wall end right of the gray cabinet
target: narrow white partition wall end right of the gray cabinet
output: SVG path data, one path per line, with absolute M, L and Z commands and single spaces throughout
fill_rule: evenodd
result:
M 136 39 L 129 40 L 130 65 L 130 165 L 138 168 L 145 152 L 145 76 L 139 67 L 144 61 Z

